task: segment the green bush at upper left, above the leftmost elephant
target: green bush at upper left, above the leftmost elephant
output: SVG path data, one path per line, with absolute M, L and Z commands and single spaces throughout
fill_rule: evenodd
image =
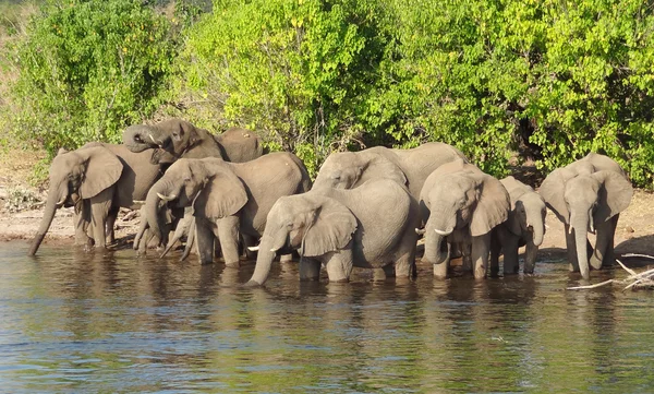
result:
M 15 48 L 12 122 L 50 154 L 118 142 L 152 115 L 172 71 L 171 23 L 130 0 L 50 2 Z

